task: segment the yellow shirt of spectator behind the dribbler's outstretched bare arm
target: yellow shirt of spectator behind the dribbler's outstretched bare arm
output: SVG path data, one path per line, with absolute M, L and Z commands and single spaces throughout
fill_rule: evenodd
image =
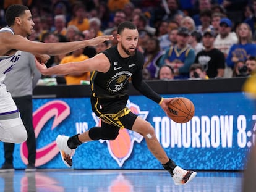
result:
M 65 64 L 67 62 L 77 62 L 77 61 L 83 61 L 85 59 L 88 59 L 88 56 L 85 56 L 81 54 L 79 57 L 74 56 L 66 56 L 64 57 L 59 64 Z M 66 84 L 67 85 L 79 85 L 81 80 L 90 80 L 90 72 L 84 73 L 83 75 L 79 77 L 75 77 L 72 75 L 65 75 Z

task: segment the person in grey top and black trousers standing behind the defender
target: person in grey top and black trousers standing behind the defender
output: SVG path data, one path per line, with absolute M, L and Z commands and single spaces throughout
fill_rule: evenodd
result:
M 4 83 L 11 93 L 17 105 L 22 122 L 27 130 L 28 164 L 26 172 L 35 171 L 36 138 L 32 121 L 32 94 L 33 88 L 41 77 L 41 73 L 35 67 L 35 56 L 28 52 L 22 52 L 15 67 L 6 75 Z M 14 143 L 4 143 L 4 165 L 0 172 L 14 171 Z

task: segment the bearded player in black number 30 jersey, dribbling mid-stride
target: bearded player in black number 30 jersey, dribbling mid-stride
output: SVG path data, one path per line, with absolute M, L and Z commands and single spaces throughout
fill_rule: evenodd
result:
M 62 159 L 71 167 L 72 156 L 77 146 L 99 139 L 114 140 L 119 134 L 119 129 L 127 128 L 145 138 L 148 149 L 161 162 L 164 169 L 168 170 L 176 185 L 185 184 L 197 173 L 184 170 L 169 159 L 156 139 L 152 125 L 126 107 L 129 78 L 132 78 L 132 84 L 140 93 L 158 103 L 165 112 L 172 98 L 161 98 L 143 81 L 144 60 L 143 55 L 136 49 L 139 33 L 135 25 L 132 22 L 122 22 L 117 28 L 117 33 L 117 46 L 112 46 L 85 61 L 56 65 L 48 69 L 45 64 L 36 62 L 40 72 L 45 75 L 92 72 L 92 110 L 101 118 L 101 127 L 93 127 L 71 137 L 58 135 L 56 143 Z

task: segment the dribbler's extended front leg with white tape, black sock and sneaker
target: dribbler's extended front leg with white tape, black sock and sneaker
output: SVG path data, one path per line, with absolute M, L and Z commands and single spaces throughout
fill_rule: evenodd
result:
M 137 117 L 132 130 L 140 133 L 145 138 L 148 149 L 161 162 L 164 169 L 168 170 L 176 185 L 186 184 L 197 175 L 196 172 L 182 169 L 173 160 L 169 159 L 161 144 L 156 139 L 155 130 L 150 123 L 141 117 Z

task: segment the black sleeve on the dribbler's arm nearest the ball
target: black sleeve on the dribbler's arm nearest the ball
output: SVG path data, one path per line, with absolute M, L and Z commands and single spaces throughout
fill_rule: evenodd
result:
M 143 80 L 142 69 L 137 70 L 137 72 L 132 75 L 132 85 L 147 98 L 155 101 L 158 104 L 161 103 L 162 97 L 152 90 L 150 86 Z

